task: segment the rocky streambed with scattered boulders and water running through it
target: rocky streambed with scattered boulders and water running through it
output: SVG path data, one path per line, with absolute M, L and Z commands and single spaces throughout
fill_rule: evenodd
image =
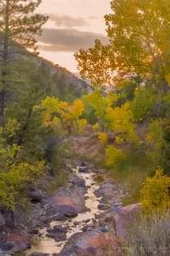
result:
M 88 163 L 70 165 L 68 160 L 66 165 L 70 172 L 65 187 L 32 206 L 26 226 L 6 238 L 8 250 L 0 255 L 98 256 L 115 242 L 113 218 L 126 189 Z

